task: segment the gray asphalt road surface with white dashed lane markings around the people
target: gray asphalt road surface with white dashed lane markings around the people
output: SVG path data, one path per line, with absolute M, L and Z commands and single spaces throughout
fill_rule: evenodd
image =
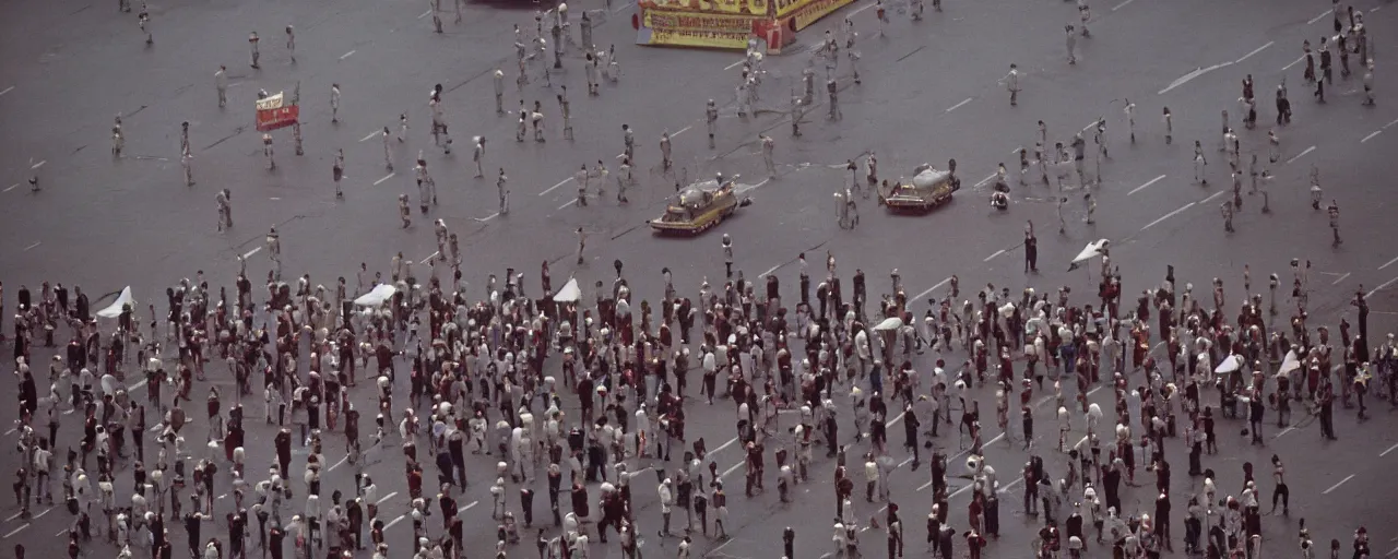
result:
M 1380 64 L 1377 108 L 1359 105 L 1357 74 L 1342 81 L 1336 73 L 1328 105 L 1316 105 L 1302 82 L 1302 66 L 1295 64 L 1302 41 L 1317 43 L 1331 29 L 1331 18 L 1324 14 L 1329 3 L 1324 1 L 1128 0 L 1093 6 L 1092 38 L 1078 41 L 1076 66 L 1067 64 L 1061 29 L 1076 20 L 1071 3 L 951 0 L 945 13 L 928 13 L 923 22 L 898 18 L 898 11 L 891 10 L 896 21 L 888 25 L 886 36 L 879 36 L 871 6 L 860 1 L 844 8 L 804 32 L 801 43 L 787 53 L 770 57 L 765 63 L 761 110 L 740 119 L 734 103 L 738 55 L 635 46 L 629 27 L 633 10 L 618 1 L 596 35 L 600 46 L 615 43 L 621 81 L 604 85 L 601 95 L 587 96 L 577 52 L 570 52 L 565 70 L 552 77 L 555 87 L 568 85 L 573 103 L 572 143 L 561 137 L 558 105 L 552 101 L 556 89 L 544 85 L 540 64 L 531 67 L 528 85 L 521 91 L 514 87 L 510 25 L 533 28 L 528 6 L 467 4 L 466 24 L 452 24 L 449 11 L 446 34 L 436 35 L 431 18 L 421 17 L 425 3 L 400 0 L 334 6 L 152 4 L 155 45 L 150 48 L 143 45 L 134 14 L 116 13 L 115 3 L 0 8 L 0 25 L 7 31 L 0 34 L 0 50 L 11 61 L 0 66 L 0 208 L 6 210 L 0 221 L 0 281 L 11 293 L 6 305 L 13 309 L 18 285 L 36 289 L 49 280 L 82 285 L 92 293 L 131 285 L 143 307 L 157 302 L 164 309 L 158 293 L 166 285 L 193 277 L 196 270 L 225 282 L 236 273 L 239 254 L 249 256 L 254 280 L 263 277 L 268 261 L 266 250 L 260 250 L 261 239 L 273 225 L 281 232 L 287 275 L 309 273 L 313 282 L 333 285 L 338 275 L 352 281 L 361 261 L 370 270 L 386 270 L 397 252 L 426 260 L 436 250 L 431 219 L 443 218 L 463 236 L 468 263 L 463 271 L 473 285 L 484 285 L 488 274 L 499 275 L 512 266 L 524 271 L 528 288 L 537 291 L 538 263 L 547 260 L 555 266 L 555 285 L 576 274 L 586 289 L 596 280 L 610 280 L 610 263 L 621 259 L 637 293 L 658 293 L 661 267 L 674 270 L 681 289 L 698 293 L 703 278 L 720 281 L 719 233 L 727 232 L 735 242 L 737 268 L 749 278 L 776 274 L 787 289 L 795 285 L 795 254 L 807 250 L 818 261 L 829 250 L 842 271 L 863 268 L 875 278 L 871 288 L 877 286 L 877 292 L 886 291 L 886 273 L 899 268 L 906 291 L 917 293 L 918 300 L 944 293 L 952 274 L 959 275 L 966 291 L 991 282 L 1040 291 L 1071 285 L 1088 292 L 1093 285 L 1088 273 L 1065 273 L 1067 261 L 1085 243 L 1107 238 L 1128 293 L 1158 284 L 1166 264 L 1176 267 L 1181 282 L 1205 286 L 1213 277 L 1223 278 L 1230 293 L 1237 292 L 1243 266 L 1248 264 L 1254 291 L 1260 291 L 1257 285 L 1265 284 L 1268 273 L 1289 278 L 1286 263 L 1300 257 L 1314 263 L 1313 323 L 1335 324 L 1346 316 L 1353 321 L 1348 300 L 1362 289 L 1370 293 L 1374 309 L 1371 330 L 1385 333 L 1395 326 L 1387 313 L 1398 313 L 1398 268 L 1392 267 L 1398 250 L 1377 242 L 1395 232 L 1388 218 L 1392 198 L 1384 186 L 1392 170 L 1387 154 L 1398 148 L 1398 130 L 1391 130 L 1398 110 L 1385 96 L 1398 81 L 1383 66 L 1391 56 L 1383 38 L 1395 13 L 1387 3 L 1357 4 L 1366 11 L 1370 32 L 1378 36 L 1377 49 L 1384 52 L 1374 56 Z M 580 7 L 605 10 L 594 0 Z M 860 32 L 856 50 L 863 55 L 863 84 L 846 84 L 849 67 L 842 61 L 844 119 L 825 122 L 825 106 L 816 106 L 808 112 L 805 134 L 791 138 L 786 99 L 812 59 L 815 38 L 836 28 L 843 14 Z M 287 24 L 296 28 L 295 63 L 282 46 L 281 29 Z M 247 66 L 250 31 L 263 38 L 263 68 L 257 71 Z M 1008 94 L 997 84 L 1009 63 L 1023 71 L 1016 108 L 1009 106 Z M 218 64 L 228 66 L 231 82 L 229 106 L 222 110 L 215 103 L 212 78 Z M 506 109 L 520 101 L 542 102 L 547 143 L 514 143 L 513 116 L 495 115 L 488 73 L 496 67 L 507 75 Z M 1278 131 L 1285 152 L 1281 162 L 1267 165 L 1276 175 L 1269 187 L 1274 212 L 1261 214 L 1261 200 L 1248 196 L 1236 218 L 1237 232 L 1226 235 L 1218 210 L 1229 182 L 1223 154 L 1216 151 L 1219 110 L 1233 113 L 1233 126 L 1241 129 L 1237 98 L 1244 74 L 1257 80 L 1261 123 L 1255 130 L 1240 130 L 1244 151 L 1261 154 L 1265 162 L 1267 123 L 1275 116 L 1269 98 L 1283 75 L 1296 119 Z M 292 155 L 289 131 L 278 131 L 278 169 L 267 172 L 253 130 L 252 103 L 259 89 L 289 95 L 296 82 L 303 99 L 306 155 Z M 333 82 L 344 95 L 337 124 L 330 123 Z M 452 155 L 435 150 L 428 134 L 426 94 L 439 82 L 447 89 L 446 113 L 456 140 Z M 716 150 L 706 147 L 702 122 L 710 98 L 724 106 Z M 825 102 L 823 94 L 818 98 Z M 1137 105 L 1134 144 L 1127 140 L 1124 99 Z M 1163 106 L 1174 115 L 1172 145 L 1163 141 Z M 113 161 L 108 127 L 117 113 L 124 119 L 127 155 Z M 396 131 L 400 113 L 408 115 L 411 131 L 407 143 L 394 143 L 396 173 L 390 175 L 383 168 L 380 138 L 372 134 L 383 126 Z M 1102 162 L 1102 186 L 1092 189 L 1097 200 L 1095 225 L 1082 222 L 1083 191 L 1060 191 L 1035 182 L 1012 186 L 1008 212 L 988 208 L 990 184 L 983 179 L 993 176 L 998 162 L 1005 162 L 1012 175 L 1018 170 L 1014 150 L 1032 148 L 1037 120 L 1047 123 L 1050 141 L 1067 143 L 1097 117 L 1109 122 L 1111 158 Z M 192 189 L 183 186 L 178 161 L 183 120 L 192 123 L 196 155 L 199 184 Z M 622 123 L 636 130 L 639 144 L 640 184 L 630 194 L 632 204 L 618 207 L 607 196 L 586 208 L 569 205 L 576 193 L 569 177 L 577 165 L 603 159 L 615 172 Z M 657 140 L 665 130 L 674 137 L 679 169 L 671 175 L 658 170 Z M 765 182 L 756 144 L 761 131 L 777 138 L 779 176 Z M 473 136 L 489 140 L 488 179 L 471 177 Z M 1090 143 L 1090 134 L 1086 137 Z M 1206 148 L 1209 186 L 1191 180 L 1194 140 Z M 330 166 L 336 148 L 347 157 L 344 201 L 333 196 Z M 394 198 L 398 193 L 415 198 L 411 159 L 419 150 L 428 154 L 442 205 L 428 215 L 415 212 L 414 226 L 404 231 L 398 228 Z M 888 177 L 910 173 L 923 162 L 941 166 L 956 158 L 965 189 L 956 201 L 928 217 L 884 215 L 871 201 L 864 203 L 860 228 L 839 229 L 830 194 L 847 180 L 844 161 L 868 151 L 878 154 L 881 175 Z M 1324 211 L 1313 211 L 1307 203 L 1311 165 L 1321 169 L 1327 201 L 1335 198 L 1342 208 L 1346 243 L 1338 249 L 1329 246 Z M 507 215 L 496 212 L 495 168 L 505 168 L 510 177 Z M 698 239 L 657 239 L 647 232 L 644 219 L 663 211 L 677 179 L 714 172 L 741 173 L 741 182 L 759 184 L 747 191 L 755 203 L 723 224 L 721 231 Z M 32 175 L 43 186 L 39 193 L 29 193 L 25 183 Z M 214 231 L 212 198 L 224 187 L 233 191 L 236 228 L 231 233 Z M 610 186 L 607 194 L 614 193 Z M 1055 196 L 1069 198 L 1065 235 L 1054 233 Z M 1043 270 L 1030 277 L 1021 271 L 1026 221 L 1036 224 Z M 572 232 L 579 226 L 590 232 L 590 239 L 587 266 L 575 270 Z M 484 296 L 484 286 L 473 295 Z M 924 307 L 914 309 L 920 313 Z M 10 324 L 0 316 L 7 334 Z M 920 370 L 930 369 L 931 359 L 921 356 Z M 960 359 L 948 356 L 951 363 Z M 206 384 L 199 384 L 194 404 Z M 993 407 L 991 394 L 976 394 L 987 409 Z M 1095 394 L 1093 401 L 1111 404 L 1104 393 Z M 372 394 L 361 389 L 355 402 L 370 409 Z M 696 538 L 699 549 L 710 556 L 779 556 L 777 534 L 791 525 L 798 532 L 800 555 L 825 553 L 833 509 L 828 509 L 832 498 L 825 484 L 832 467 L 822 453 L 816 453 L 818 482 L 798 488 L 794 504 L 780 504 L 774 491 L 744 499 L 740 451 L 735 444 L 723 446 L 733 440 L 733 408 L 727 402 L 714 408 L 691 405 L 691 436 L 705 437 L 710 449 L 723 447 L 713 457 L 721 472 L 731 472 L 726 479 L 731 479 L 733 539 Z M 249 407 L 259 416 L 260 402 Z M 1378 498 L 1398 492 L 1391 477 L 1384 475 L 1398 460 L 1398 439 L 1384 428 L 1392 421 L 1385 412 L 1357 425 L 1352 412 L 1341 414 L 1338 442 L 1318 440 L 1314 426 L 1283 433 L 1269 429 L 1267 449 L 1248 447 L 1241 437 L 1232 440 L 1229 435 L 1236 430 L 1226 423 L 1220 428 L 1226 433 L 1223 454 L 1206 460 L 1206 465 L 1219 472 L 1220 491 L 1236 493 L 1240 463 L 1261 465 L 1272 453 L 1286 460 L 1296 499 L 1289 520 L 1268 518 L 1264 524 L 1275 546 L 1293 545 L 1295 521 L 1306 517 L 1317 539 L 1338 538 L 1346 545 L 1348 534 L 1367 524 L 1378 542 L 1376 552 L 1388 552 L 1392 535 L 1377 527 L 1392 525 L 1395 518 Z M 75 418 L 69 418 L 60 440 L 73 442 L 81 430 Z M 1047 418 L 1040 421 L 1040 433 L 1051 430 Z M 270 443 L 271 430 L 250 423 L 250 439 Z M 203 425 L 196 422 L 192 429 L 186 439 L 201 440 Z M 898 426 L 891 426 L 891 433 L 892 442 L 902 442 Z M 327 443 L 331 464 L 344 456 L 340 442 L 331 437 Z M 1040 440 L 1042 447 L 1051 443 Z M 937 444 L 958 451 L 953 435 L 944 433 Z M 1197 491 L 1194 481 L 1183 475 L 1184 447 L 1177 440 L 1172 444 L 1173 486 L 1180 495 Z M 1002 484 L 1015 479 L 1014 472 L 1026 460 L 1021 446 L 987 446 L 987 460 L 1001 471 Z M 380 513 L 386 520 L 407 510 L 398 456 L 389 449 L 382 463 L 368 467 L 379 481 L 380 495 L 400 493 L 386 498 Z M 895 456 L 903 454 L 895 450 Z M 259 465 L 253 471 L 260 471 L 270 457 L 270 444 L 249 446 L 247 461 Z M 477 553 L 493 549 L 491 463 L 488 457 L 473 458 L 478 474 L 457 499 L 470 507 L 466 518 L 480 527 L 468 538 L 468 549 Z M 953 472 L 959 472 L 958 463 L 952 460 Z M 1061 471 L 1057 456 L 1048 463 L 1051 471 Z M 8 461 L 0 464 L 14 470 Z M 644 465 L 651 464 L 637 464 Z M 338 464 L 327 475 L 331 488 L 352 489 L 352 470 Z M 918 520 L 931 506 L 925 478 L 925 468 L 905 467 L 892 479 L 892 493 L 909 525 L 909 549 L 918 553 L 921 544 L 913 544 L 921 541 Z M 671 555 L 672 539 L 657 542 L 649 535 L 657 524 L 650 479 L 640 477 L 633 488 L 647 534 L 646 552 L 663 548 L 661 555 Z M 122 482 L 129 484 L 130 477 Z M 1269 492 L 1269 481 L 1260 485 Z M 535 513 L 544 516 L 547 492 L 542 485 L 538 489 Z M 1004 534 L 991 548 L 995 556 L 1023 556 L 1033 537 L 1033 520 L 1015 518 L 1021 489 L 1007 489 L 1001 507 Z M 1128 503 L 1138 499 L 1145 504 L 1152 498 L 1148 489 L 1128 489 L 1127 496 Z M 962 528 L 967 498 L 966 492 L 953 498 L 952 521 Z M 228 510 L 226 503 L 219 500 L 219 513 Z M 881 506 L 860 503 L 860 516 L 867 518 Z M 1183 500 L 1176 500 L 1176 510 L 1183 509 Z M 60 534 L 69 521 L 62 507 L 41 507 L 31 521 L 7 518 L 0 532 L 7 541 L 24 541 L 39 551 L 34 548 L 42 549 L 42 542 Z M 1183 534 L 1176 521 L 1176 534 Z M 398 521 L 390 528 L 396 549 L 407 545 L 408 524 Z M 182 530 L 172 531 L 176 539 L 182 537 Z M 865 552 L 882 556 L 878 534 L 865 535 Z M 94 549 L 99 555 L 109 552 L 102 545 Z M 594 552 L 603 558 L 618 553 L 615 544 L 598 545 Z M 1093 549 L 1093 555 L 1106 552 Z M 520 548 L 513 553 L 531 551 Z

